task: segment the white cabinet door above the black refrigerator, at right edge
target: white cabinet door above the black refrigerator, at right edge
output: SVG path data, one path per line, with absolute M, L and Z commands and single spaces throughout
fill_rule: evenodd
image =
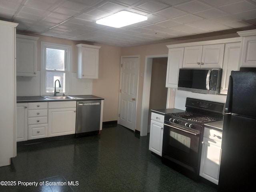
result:
M 241 67 L 256 67 L 256 36 L 244 37 L 242 43 Z

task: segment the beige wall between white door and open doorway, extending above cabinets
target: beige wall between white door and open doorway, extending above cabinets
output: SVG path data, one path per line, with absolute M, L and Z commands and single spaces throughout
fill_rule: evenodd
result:
M 209 36 L 209 37 L 203 37 L 203 38 L 194 38 L 194 39 L 189 39 L 189 40 L 178 40 L 178 41 L 149 44 L 149 45 L 142 45 L 142 46 L 125 47 L 125 48 L 122 48 L 121 56 L 140 55 L 140 74 L 141 74 L 141 72 L 144 74 L 146 56 L 168 54 L 168 48 L 166 47 L 166 45 L 187 43 L 187 42 L 198 42 L 198 41 L 205 41 L 205 40 L 216 40 L 216 39 L 224 39 L 224 38 L 233 38 L 233 37 L 238 37 L 238 34 L 233 33 L 233 34 Z M 142 76 L 142 77 L 139 76 L 138 97 L 137 97 L 138 102 L 137 102 L 136 126 L 135 126 L 135 129 L 138 131 L 140 131 L 140 126 L 141 126 L 140 123 L 141 123 L 141 112 L 142 112 L 143 80 L 144 80 L 144 76 Z

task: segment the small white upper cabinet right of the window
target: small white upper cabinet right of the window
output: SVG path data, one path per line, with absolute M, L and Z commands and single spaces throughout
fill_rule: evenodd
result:
M 77 44 L 77 78 L 98 79 L 100 46 Z

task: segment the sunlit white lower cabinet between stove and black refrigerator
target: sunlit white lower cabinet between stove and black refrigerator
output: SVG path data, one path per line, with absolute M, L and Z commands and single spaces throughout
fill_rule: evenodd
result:
M 199 175 L 218 185 L 222 132 L 204 128 Z

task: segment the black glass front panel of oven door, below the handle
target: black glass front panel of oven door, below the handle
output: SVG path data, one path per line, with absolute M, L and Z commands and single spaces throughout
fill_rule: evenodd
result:
M 164 125 L 163 156 L 167 155 L 197 166 L 199 136 Z

